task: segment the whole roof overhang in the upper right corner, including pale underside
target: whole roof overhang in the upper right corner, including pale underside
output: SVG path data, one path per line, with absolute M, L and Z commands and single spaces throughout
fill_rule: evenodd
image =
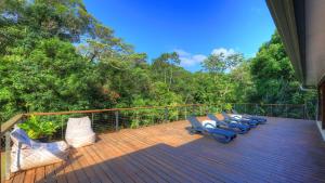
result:
M 304 87 L 325 76 L 325 1 L 266 0 L 286 52 Z

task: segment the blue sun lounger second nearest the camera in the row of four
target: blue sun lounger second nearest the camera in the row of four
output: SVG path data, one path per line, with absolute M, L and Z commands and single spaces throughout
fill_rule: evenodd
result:
M 218 126 L 225 126 L 227 129 L 231 129 L 239 134 L 247 133 L 250 130 L 248 125 L 240 123 L 240 122 L 227 122 L 224 120 L 219 120 L 213 114 L 208 114 L 208 118 L 216 121 Z

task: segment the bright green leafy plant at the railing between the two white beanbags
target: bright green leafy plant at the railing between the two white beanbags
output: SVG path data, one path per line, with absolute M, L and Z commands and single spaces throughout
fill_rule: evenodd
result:
M 52 121 L 41 121 L 39 117 L 31 115 L 26 121 L 18 127 L 26 131 L 30 139 L 40 139 L 52 136 L 60 126 Z

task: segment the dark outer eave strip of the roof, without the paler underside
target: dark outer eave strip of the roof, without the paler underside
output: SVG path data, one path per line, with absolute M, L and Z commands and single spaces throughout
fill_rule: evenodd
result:
M 299 13 L 297 13 L 297 15 L 300 16 L 299 19 L 304 19 L 304 1 L 266 0 L 266 4 L 298 80 L 303 87 L 312 87 L 306 83 L 303 71 L 306 69 L 304 22 L 297 23 L 295 14 L 295 11 L 298 10 Z

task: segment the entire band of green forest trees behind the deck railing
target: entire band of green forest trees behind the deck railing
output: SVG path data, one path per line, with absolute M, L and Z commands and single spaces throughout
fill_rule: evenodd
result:
M 299 89 L 275 32 L 257 55 L 211 54 L 203 70 L 180 66 L 177 53 L 150 64 L 114 36 L 80 0 L 0 1 L 0 121 L 16 113 L 135 106 L 311 102 Z M 220 110 L 220 108 L 214 108 Z M 197 110 L 193 109 L 193 112 Z M 184 112 L 172 110 L 168 120 Z M 132 127 L 165 120 L 164 112 L 130 116 Z

